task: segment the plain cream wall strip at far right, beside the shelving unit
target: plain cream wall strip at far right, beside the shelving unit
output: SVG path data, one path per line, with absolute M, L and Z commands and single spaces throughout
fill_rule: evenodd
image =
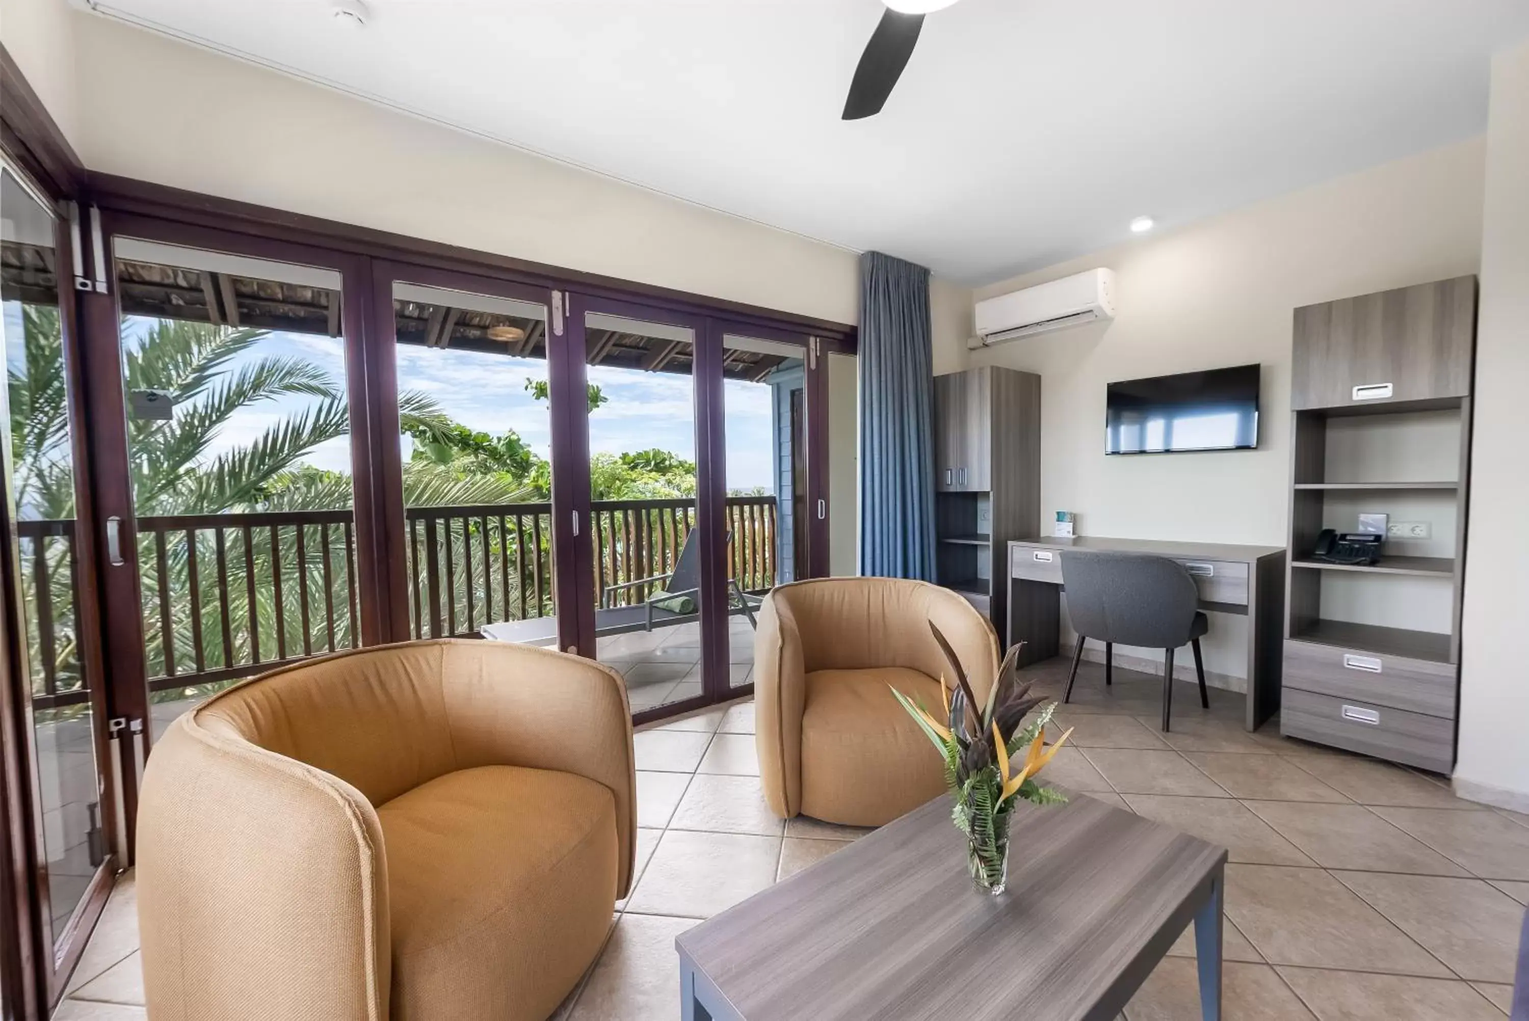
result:
M 1529 43 L 1492 61 L 1456 789 L 1529 812 Z

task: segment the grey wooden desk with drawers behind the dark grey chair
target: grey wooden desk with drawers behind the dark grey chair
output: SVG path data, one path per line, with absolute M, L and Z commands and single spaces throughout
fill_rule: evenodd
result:
M 1284 639 L 1284 547 L 1225 543 L 1165 543 L 1084 535 L 1073 540 L 1009 543 L 1008 642 L 1024 640 L 1020 665 L 1060 651 L 1061 555 L 1066 550 L 1151 553 L 1176 559 L 1200 588 L 1200 608 L 1248 617 L 1249 731 L 1280 708 Z

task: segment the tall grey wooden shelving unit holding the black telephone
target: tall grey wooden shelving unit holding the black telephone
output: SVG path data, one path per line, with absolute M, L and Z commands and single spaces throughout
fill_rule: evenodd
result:
M 1295 310 L 1280 728 L 1446 773 L 1456 758 L 1475 278 Z M 1378 394 L 1378 396 L 1376 396 Z M 1359 514 L 1423 526 L 1312 558 Z

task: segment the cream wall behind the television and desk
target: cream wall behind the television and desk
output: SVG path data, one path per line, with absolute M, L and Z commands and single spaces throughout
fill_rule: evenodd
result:
M 1041 535 L 1066 509 L 1084 535 L 1284 546 L 1292 310 L 1475 272 L 1483 159 L 1482 139 L 1449 145 L 982 287 L 1109 266 L 1119 315 L 969 356 L 937 350 L 936 365 L 1040 373 Z M 1258 449 L 1104 455 L 1107 382 L 1248 362 L 1263 365 Z M 1212 621 L 1209 671 L 1246 673 L 1245 627 Z

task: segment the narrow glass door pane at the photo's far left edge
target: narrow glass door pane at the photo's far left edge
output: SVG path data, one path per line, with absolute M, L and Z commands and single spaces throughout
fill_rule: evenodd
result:
M 46 908 L 63 931 L 106 861 L 98 801 L 93 677 L 78 647 L 75 477 L 54 217 L 9 171 L 0 173 L 0 304 L 5 321 L 11 477 L 8 512 L 20 538 L 32 689 Z

